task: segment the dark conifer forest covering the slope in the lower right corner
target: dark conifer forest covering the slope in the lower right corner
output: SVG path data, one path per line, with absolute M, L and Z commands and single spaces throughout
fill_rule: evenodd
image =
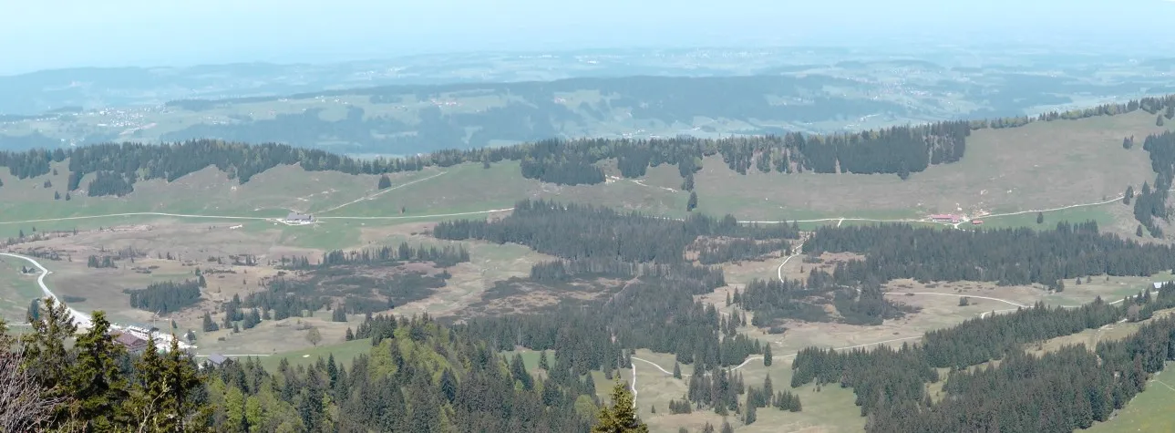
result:
M 1096 347 L 1067 346 L 1043 356 L 1021 344 L 1146 320 L 1175 306 L 1175 285 L 1119 305 L 1101 299 L 1081 309 L 1036 305 L 1012 314 L 972 319 L 929 332 L 922 345 L 899 350 L 835 352 L 807 349 L 795 357 L 792 387 L 840 384 L 857 393 L 866 432 L 1073 432 L 1104 421 L 1175 360 L 1175 318 L 1144 324 L 1137 333 Z M 1001 359 L 998 366 L 967 366 Z M 933 367 L 952 367 L 942 378 Z M 936 402 L 926 384 L 946 380 Z

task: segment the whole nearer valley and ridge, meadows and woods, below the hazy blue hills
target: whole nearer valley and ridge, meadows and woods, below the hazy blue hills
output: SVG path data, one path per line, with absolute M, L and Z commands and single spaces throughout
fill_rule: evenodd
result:
M 207 138 L 2 151 L 18 256 L 0 313 L 42 280 L 70 307 L 190 330 L 200 356 L 237 359 L 207 366 L 217 426 L 578 432 L 610 381 L 656 432 L 1156 425 L 1137 408 L 1173 357 L 1175 285 L 1152 286 L 1175 263 L 1173 110 L 403 158 Z M 549 415 L 483 407 L 506 400 Z

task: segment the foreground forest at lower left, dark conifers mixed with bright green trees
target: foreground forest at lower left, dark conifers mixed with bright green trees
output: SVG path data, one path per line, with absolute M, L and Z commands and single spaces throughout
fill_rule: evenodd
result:
M 76 338 L 63 305 L 39 316 L 19 339 L 0 322 L 6 432 L 588 432 L 603 405 L 569 364 L 536 377 L 428 317 L 382 318 L 350 364 L 270 372 L 249 358 L 197 368 L 174 344 L 127 353 L 102 312 Z

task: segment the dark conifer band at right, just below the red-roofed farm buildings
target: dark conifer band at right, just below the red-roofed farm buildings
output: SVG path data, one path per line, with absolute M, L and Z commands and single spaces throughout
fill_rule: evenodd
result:
M 1150 276 L 1175 265 L 1169 245 L 1140 244 L 1100 234 L 1097 223 L 1061 222 L 1054 230 L 914 228 L 909 224 L 822 226 L 804 252 L 861 252 L 864 261 L 839 263 L 839 284 L 880 284 L 895 278 L 1039 283 L 1063 290 L 1061 280 L 1094 275 Z

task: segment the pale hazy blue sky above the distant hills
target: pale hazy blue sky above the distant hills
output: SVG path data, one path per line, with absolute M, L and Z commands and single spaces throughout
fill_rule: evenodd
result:
M 1171 0 L 0 0 L 0 74 L 474 50 L 1175 40 Z M 1159 53 L 1157 55 L 1163 55 Z

